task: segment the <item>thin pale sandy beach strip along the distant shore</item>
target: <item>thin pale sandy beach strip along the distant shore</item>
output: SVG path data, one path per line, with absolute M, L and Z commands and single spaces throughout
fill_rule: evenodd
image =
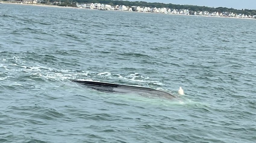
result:
M 80 7 L 62 7 L 57 5 L 48 5 L 48 4 L 23 4 L 10 1 L 0 1 L 1 4 L 20 4 L 20 5 L 32 5 L 32 6 L 41 6 L 41 7 L 58 7 L 58 8 L 75 8 L 75 9 L 86 9 L 86 10 L 97 10 L 89 8 L 80 8 Z M 107 10 L 107 11 L 119 11 L 119 12 L 132 12 L 132 13 L 151 13 L 151 12 L 135 12 L 135 11 L 121 11 L 121 10 Z M 225 16 L 204 16 L 204 15 L 186 15 L 186 14 L 173 14 L 173 13 L 153 13 L 153 14 L 169 14 L 169 15 L 179 15 L 179 16 L 200 16 L 200 17 L 215 17 L 215 18 L 231 18 L 231 19 L 253 19 L 255 18 L 241 18 L 241 17 L 225 17 Z

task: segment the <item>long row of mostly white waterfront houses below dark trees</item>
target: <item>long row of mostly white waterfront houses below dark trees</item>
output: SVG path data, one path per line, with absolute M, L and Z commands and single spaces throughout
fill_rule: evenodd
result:
M 98 9 L 98 10 L 121 10 L 121 11 L 136 11 L 136 12 L 152 12 L 152 13 L 170 13 L 170 14 L 185 14 L 185 15 L 201 15 L 201 16 L 225 16 L 225 17 L 240 17 L 240 18 L 256 18 L 256 15 L 245 15 L 236 14 L 230 12 L 212 12 L 208 11 L 191 11 L 187 9 L 171 9 L 171 8 L 156 8 L 156 7 L 140 7 L 132 6 L 128 7 L 125 5 L 114 5 L 100 4 L 100 3 L 87 3 L 87 4 L 76 4 L 80 8 Z

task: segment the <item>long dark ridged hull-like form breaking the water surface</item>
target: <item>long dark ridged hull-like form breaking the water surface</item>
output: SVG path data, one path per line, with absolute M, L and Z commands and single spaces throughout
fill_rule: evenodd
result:
M 102 83 L 95 81 L 79 81 L 72 80 L 76 83 L 81 83 L 91 89 L 95 89 L 101 92 L 118 92 L 118 93 L 136 93 L 144 96 L 158 96 L 164 98 L 174 98 L 173 95 L 167 92 L 163 92 L 156 89 L 137 87 L 137 86 L 127 86 L 114 83 Z

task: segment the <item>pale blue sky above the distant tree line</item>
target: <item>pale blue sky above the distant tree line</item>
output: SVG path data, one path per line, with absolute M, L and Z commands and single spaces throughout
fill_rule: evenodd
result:
M 129 0 L 128 0 L 129 1 Z M 166 4 L 189 4 L 207 7 L 227 7 L 235 9 L 256 9 L 256 0 L 130 0 L 130 1 L 146 1 L 160 2 Z

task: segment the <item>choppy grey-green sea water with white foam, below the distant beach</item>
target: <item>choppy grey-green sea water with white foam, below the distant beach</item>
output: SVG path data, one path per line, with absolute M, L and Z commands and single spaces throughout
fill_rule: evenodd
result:
M 0 142 L 253 143 L 255 27 L 249 19 L 0 4 Z M 104 93 L 74 79 L 177 98 Z

